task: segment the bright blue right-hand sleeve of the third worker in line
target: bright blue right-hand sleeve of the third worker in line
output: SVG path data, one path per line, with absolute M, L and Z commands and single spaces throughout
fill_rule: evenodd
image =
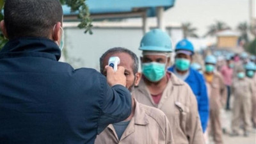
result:
M 207 127 L 208 118 L 209 118 L 209 99 L 207 94 L 207 88 L 205 84 L 204 77 L 200 77 L 200 100 L 198 101 L 198 111 L 200 115 L 200 120 L 202 124 L 203 132 L 205 132 L 205 129 Z

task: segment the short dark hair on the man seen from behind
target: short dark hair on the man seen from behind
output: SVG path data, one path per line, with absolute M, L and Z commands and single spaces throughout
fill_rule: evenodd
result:
M 54 25 L 62 22 L 59 0 L 6 0 L 4 23 L 10 39 L 35 36 L 48 38 Z

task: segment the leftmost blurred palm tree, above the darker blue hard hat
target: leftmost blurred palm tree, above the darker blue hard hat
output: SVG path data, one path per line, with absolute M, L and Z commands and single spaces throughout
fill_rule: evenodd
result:
M 190 22 L 184 22 L 182 23 L 182 30 L 183 30 L 183 35 L 184 38 L 189 37 L 195 37 L 198 38 L 198 35 L 196 35 L 195 31 L 197 30 L 196 28 L 192 27 L 192 24 Z

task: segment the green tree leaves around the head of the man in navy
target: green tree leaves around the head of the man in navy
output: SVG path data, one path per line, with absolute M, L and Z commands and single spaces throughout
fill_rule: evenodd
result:
M 0 20 L 3 20 L 4 1 L 0 0 Z M 81 21 L 78 28 L 85 29 L 84 33 L 92 34 L 92 19 L 90 18 L 89 8 L 85 3 L 86 0 L 60 0 L 61 4 L 67 4 L 70 7 L 70 12 L 78 12 L 77 18 Z M 8 40 L 4 38 L 0 31 L 0 49 Z

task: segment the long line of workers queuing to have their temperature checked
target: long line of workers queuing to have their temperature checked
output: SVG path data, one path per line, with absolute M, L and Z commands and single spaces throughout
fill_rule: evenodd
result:
M 175 46 L 175 61 L 170 67 L 172 47 L 164 31 L 146 33 L 139 48 L 141 72 L 138 57 L 129 49 L 115 47 L 102 55 L 100 72 L 105 76 L 108 59 L 120 58 L 133 102 L 129 118 L 108 125 L 97 136 L 96 144 L 202 144 L 207 142 L 208 132 L 216 144 L 221 144 L 220 110 L 230 109 L 230 95 L 234 97 L 231 135 L 239 135 L 242 120 L 244 136 L 248 136 L 252 120 L 256 124 L 256 111 L 252 111 L 252 107 L 256 109 L 255 59 L 229 54 L 225 65 L 217 70 L 216 57 L 208 55 L 203 72 L 202 66 L 192 63 L 194 47 L 186 39 Z

